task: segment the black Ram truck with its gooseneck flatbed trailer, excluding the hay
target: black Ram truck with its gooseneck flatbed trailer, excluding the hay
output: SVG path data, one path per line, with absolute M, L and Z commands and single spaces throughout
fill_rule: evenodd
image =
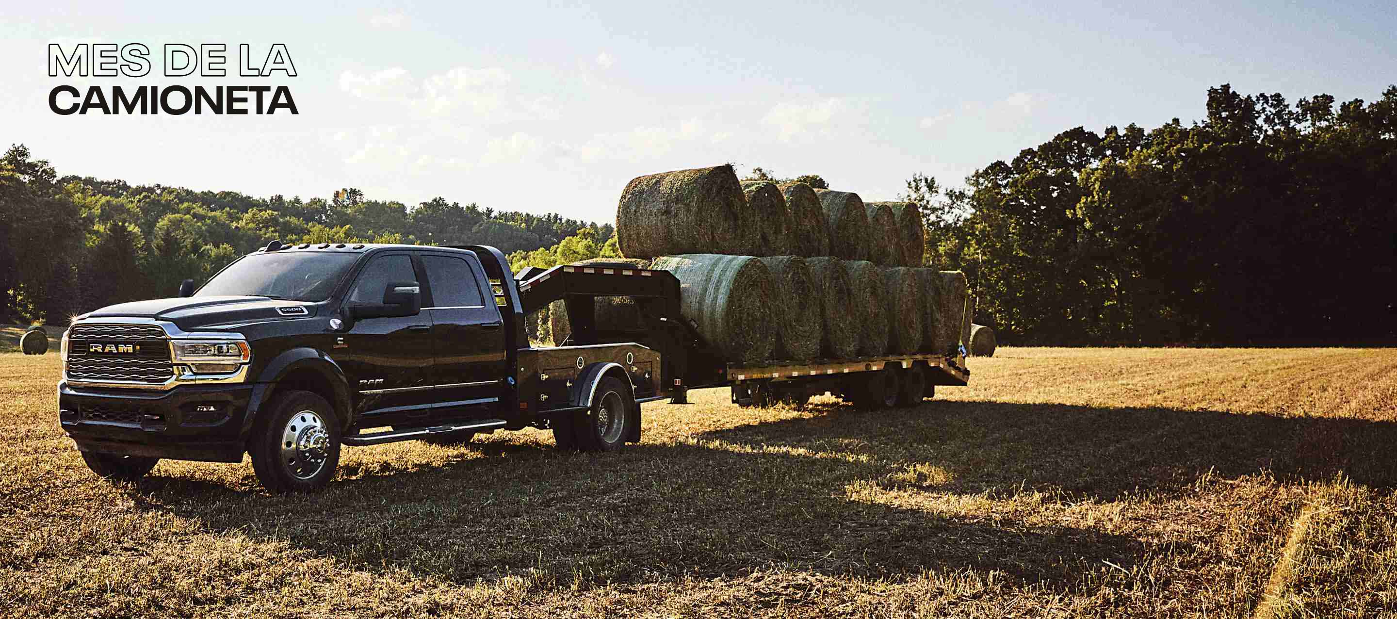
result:
M 59 421 L 96 474 L 159 458 L 251 456 L 274 492 L 314 490 L 341 446 L 465 443 L 552 429 L 560 449 L 640 440 L 640 404 L 731 386 L 743 405 L 834 393 L 863 408 L 965 384 L 964 348 L 805 365 L 719 361 L 679 316 L 679 281 L 629 264 L 510 271 L 489 246 L 271 242 L 173 299 L 103 307 L 63 335 Z M 597 296 L 640 321 L 604 330 Z M 562 299 L 566 345 L 529 347 L 524 316 Z

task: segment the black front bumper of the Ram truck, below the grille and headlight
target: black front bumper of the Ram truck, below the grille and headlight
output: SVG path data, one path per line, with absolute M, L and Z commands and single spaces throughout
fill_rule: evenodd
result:
M 210 463 L 243 458 L 246 421 L 264 383 L 168 391 L 59 383 L 59 422 L 82 451 Z

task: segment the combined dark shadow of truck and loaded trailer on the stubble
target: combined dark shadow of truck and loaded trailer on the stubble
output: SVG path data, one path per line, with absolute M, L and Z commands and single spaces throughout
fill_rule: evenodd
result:
M 1210 469 L 1345 472 L 1376 486 L 1397 479 L 1380 450 L 1397 439 L 1391 423 L 1003 402 L 816 408 L 615 456 L 496 439 L 437 465 L 383 468 L 310 496 L 166 479 L 137 500 L 356 569 L 461 584 L 510 574 L 569 585 L 770 569 L 887 580 L 995 570 L 1067 588 L 1102 566 L 1130 570 L 1165 542 L 1087 524 L 947 516 L 875 495 L 1046 489 L 1112 500 L 1180 492 Z

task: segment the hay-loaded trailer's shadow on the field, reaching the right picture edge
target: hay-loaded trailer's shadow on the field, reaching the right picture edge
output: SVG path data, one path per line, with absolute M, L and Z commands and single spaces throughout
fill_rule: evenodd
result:
M 1341 474 L 1376 489 L 1397 486 L 1397 423 L 1390 421 L 993 401 L 880 412 L 813 404 L 807 412 L 703 439 L 841 450 L 890 465 L 926 463 L 949 472 L 940 490 L 957 493 L 1039 488 L 1115 500 L 1141 490 L 1175 493 L 1208 471 L 1294 481 Z

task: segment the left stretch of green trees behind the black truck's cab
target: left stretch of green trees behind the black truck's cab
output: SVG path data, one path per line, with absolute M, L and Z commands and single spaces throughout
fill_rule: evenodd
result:
M 367 200 L 358 189 L 330 198 L 258 198 L 161 184 L 57 176 L 24 145 L 0 156 L 0 321 L 67 323 L 124 300 L 173 296 L 268 240 L 284 243 L 483 243 L 532 252 L 584 231 L 557 214 L 496 211 L 436 197 L 416 207 Z

